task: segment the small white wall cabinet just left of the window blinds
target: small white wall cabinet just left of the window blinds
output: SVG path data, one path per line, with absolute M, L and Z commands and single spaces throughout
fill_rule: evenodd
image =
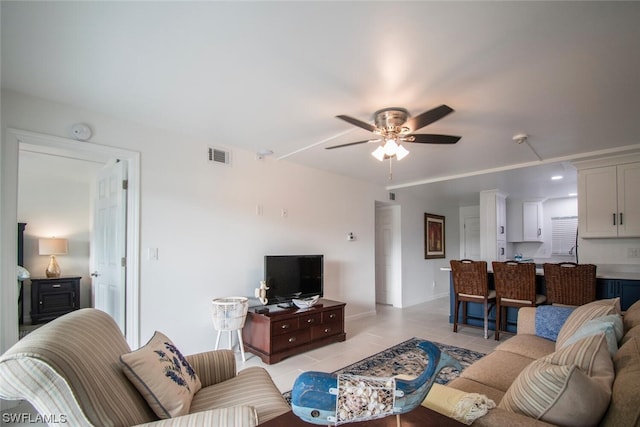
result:
M 542 202 L 507 203 L 507 241 L 542 242 Z

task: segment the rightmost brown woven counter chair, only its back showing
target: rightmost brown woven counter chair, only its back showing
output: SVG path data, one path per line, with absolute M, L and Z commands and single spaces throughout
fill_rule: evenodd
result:
M 596 266 L 545 263 L 544 281 L 549 304 L 583 305 L 596 299 Z

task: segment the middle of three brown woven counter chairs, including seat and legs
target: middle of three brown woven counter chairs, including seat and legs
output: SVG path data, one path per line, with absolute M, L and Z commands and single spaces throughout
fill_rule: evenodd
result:
M 536 294 L 536 265 L 532 262 L 493 261 L 493 282 L 496 288 L 496 341 L 507 328 L 507 307 L 535 307 L 547 297 Z M 503 315 L 504 312 L 504 315 Z

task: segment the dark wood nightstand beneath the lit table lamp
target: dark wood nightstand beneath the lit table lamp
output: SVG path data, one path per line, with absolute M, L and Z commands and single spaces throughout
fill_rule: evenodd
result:
M 80 308 L 81 277 L 31 278 L 31 322 L 43 323 Z

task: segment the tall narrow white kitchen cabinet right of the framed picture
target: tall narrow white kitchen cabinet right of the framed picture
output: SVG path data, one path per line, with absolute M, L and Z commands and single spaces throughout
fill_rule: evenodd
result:
M 507 195 L 499 190 L 480 192 L 480 258 L 507 259 Z

